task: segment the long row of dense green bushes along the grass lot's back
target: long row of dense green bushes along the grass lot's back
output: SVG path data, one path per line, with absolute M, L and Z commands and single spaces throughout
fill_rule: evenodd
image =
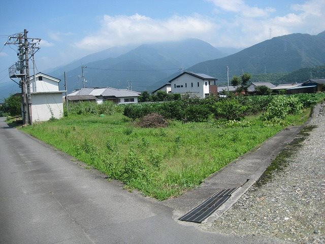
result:
M 278 96 L 234 96 L 228 98 L 208 97 L 206 99 L 184 97 L 177 101 L 152 104 L 129 104 L 124 115 L 136 119 L 149 113 L 159 113 L 165 118 L 190 121 L 206 121 L 210 115 L 228 120 L 245 115 L 264 112 L 262 118 L 285 118 L 303 107 L 309 107 L 325 98 L 325 93 Z

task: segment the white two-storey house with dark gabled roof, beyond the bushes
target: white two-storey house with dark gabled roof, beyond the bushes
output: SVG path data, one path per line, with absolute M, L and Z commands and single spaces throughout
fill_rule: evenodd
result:
M 192 72 L 183 72 L 169 81 L 172 93 L 190 97 L 205 98 L 210 94 L 217 95 L 216 78 Z

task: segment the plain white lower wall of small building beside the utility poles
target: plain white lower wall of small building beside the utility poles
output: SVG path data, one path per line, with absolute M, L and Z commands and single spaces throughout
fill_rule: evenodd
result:
M 63 116 L 62 93 L 31 93 L 31 103 L 33 121 L 46 121 L 52 115 Z

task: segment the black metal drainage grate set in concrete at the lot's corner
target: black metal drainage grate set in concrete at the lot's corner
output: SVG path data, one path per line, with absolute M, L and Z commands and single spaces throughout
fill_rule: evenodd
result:
M 232 193 L 238 188 L 223 189 L 218 191 L 213 196 L 209 197 L 199 206 L 194 207 L 192 210 L 187 212 L 184 216 L 179 218 L 181 221 L 188 221 L 194 223 L 202 223 L 212 213 L 218 209 L 226 200 L 228 200 Z

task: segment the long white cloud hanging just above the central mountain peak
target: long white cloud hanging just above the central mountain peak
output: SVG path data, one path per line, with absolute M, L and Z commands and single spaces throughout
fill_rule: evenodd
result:
M 209 35 L 217 28 L 212 20 L 200 15 L 173 16 L 156 20 L 135 14 L 132 16 L 105 15 L 98 33 L 85 37 L 75 45 L 82 49 L 98 50 L 117 45 L 176 41 Z

